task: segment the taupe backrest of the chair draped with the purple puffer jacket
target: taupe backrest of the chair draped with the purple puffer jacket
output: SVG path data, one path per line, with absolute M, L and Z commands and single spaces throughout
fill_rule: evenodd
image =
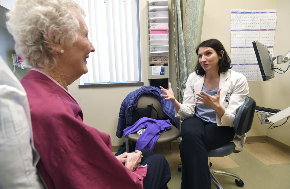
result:
M 137 107 L 138 108 L 146 108 L 147 105 L 153 104 L 153 107 L 157 110 L 159 119 L 164 119 L 168 117 L 162 110 L 161 103 L 156 96 L 153 95 L 142 95 L 138 99 Z M 152 109 L 151 118 L 157 119 L 157 113 Z

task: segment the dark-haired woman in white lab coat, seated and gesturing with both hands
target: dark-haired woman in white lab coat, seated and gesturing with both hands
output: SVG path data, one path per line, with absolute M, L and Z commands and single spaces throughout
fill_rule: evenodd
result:
M 182 104 L 171 89 L 160 87 L 175 106 L 181 124 L 181 188 L 211 188 L 207 151 L 234 141 L 236 110 L 249 93 L 247 79 L 230 70 L 230 57 L 217 39 L 203 41 L 196 49 L 198 64 L 188 76 Z

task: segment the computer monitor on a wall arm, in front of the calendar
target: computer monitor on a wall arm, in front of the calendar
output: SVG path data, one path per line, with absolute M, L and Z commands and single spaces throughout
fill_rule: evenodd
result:
M 275 72 L 274 70 L 272 70 L 272 67 L 274 67 L 274 63 L 270 59 L 270 56 L 272 56 L 272 54 L 270 53 L 267 46 L 258 41 L 253 41 L 253 47 L 258 60 L 263 81 L 275 77 Z

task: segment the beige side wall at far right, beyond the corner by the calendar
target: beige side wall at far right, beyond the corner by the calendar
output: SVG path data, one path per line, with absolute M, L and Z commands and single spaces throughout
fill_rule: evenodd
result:
M 290 1 L 277 1 L 277 31 L 275 34 L 274 53 L 277 55 L 285 54 L 290 50 L 289 39 L 289 19 L 290 19 Z M 287 24 L 288 23 L 288 24 Z M 289 62 L 288 62 L 289 63 Z M 288 64 L 287 63 L 287 64 Z M 279 67 L 285 68 L 286 64 L 279 64 Z M 271 93 L 269 98 L 269 105 L 277 109 L 284 109 L 290 106 L 290 71 L 284 74 L 276 74 L 271 81 Z M 285 121 L 279 122 L 279 125 Z M 276 140 L 290 146 L 290 120 L 285 125 L 279 128 L 267 130 L 267 136 L 275 138 Z

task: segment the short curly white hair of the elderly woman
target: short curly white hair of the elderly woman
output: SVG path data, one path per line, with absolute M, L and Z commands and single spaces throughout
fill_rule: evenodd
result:
M 31 67 L 47 70 L 56 66 L 56 45 L 72 45 L 79 21 L 73 11 L 85 16 L 73 0 L 17 0 L 6 16 L 15 51 Z

